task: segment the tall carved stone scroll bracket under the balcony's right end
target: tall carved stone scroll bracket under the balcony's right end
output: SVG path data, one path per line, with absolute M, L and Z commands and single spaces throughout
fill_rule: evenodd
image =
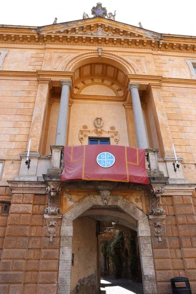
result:
M 152 188 L 150 190 L 151 193 L 151 208 L 150 208 L 150 215 L 153 216 L 159 216 L 159 215 L 163 215 L 163 213 L 165 212 L 162 204 L 161 204 L 161 195 L 164 193 L 164 188 Z

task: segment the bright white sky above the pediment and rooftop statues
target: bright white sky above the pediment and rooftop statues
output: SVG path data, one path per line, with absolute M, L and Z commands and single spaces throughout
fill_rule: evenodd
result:
M 89 17 L 98 0 L 1 0 L 1 25 L 42 26 Z M 100 0 L 116 21 L 143 27 L 155 32 L 196 36 L 196 0 Z M 186 5 L 187 4 L 187 5 Z

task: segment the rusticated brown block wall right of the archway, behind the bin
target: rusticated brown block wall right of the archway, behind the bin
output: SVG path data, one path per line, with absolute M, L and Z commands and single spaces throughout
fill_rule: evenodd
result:
M 166 211 L 162 243 L 151 237 L 158 294 L 172 294 L 170 279 L 189 278 L 196 294 L 196 194 L 166 191 L 162 203 Z M 152 221 L 151 225 L 152 225 Z

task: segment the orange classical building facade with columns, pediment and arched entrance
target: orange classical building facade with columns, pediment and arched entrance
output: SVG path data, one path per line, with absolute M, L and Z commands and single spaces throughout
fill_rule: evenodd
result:
M 0 25 L 0 293 L 98 294 L 113 221 L 137 231 L 145 294 L 174 276 L 196 294 L 196 37 L 93 13 Z M 60 182 L 63 146 L 88 144 L 145 148 L 150 185 Z

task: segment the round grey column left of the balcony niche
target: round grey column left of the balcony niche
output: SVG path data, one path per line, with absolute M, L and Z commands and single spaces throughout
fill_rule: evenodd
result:
M 61 81 L 61 99 L 58 113 L 58 122 L 56 128 L 56 146 L 64 146 L 67 137 L 68 109 L 69 109 L 69 93 L 72 87 L 71 80 Z

